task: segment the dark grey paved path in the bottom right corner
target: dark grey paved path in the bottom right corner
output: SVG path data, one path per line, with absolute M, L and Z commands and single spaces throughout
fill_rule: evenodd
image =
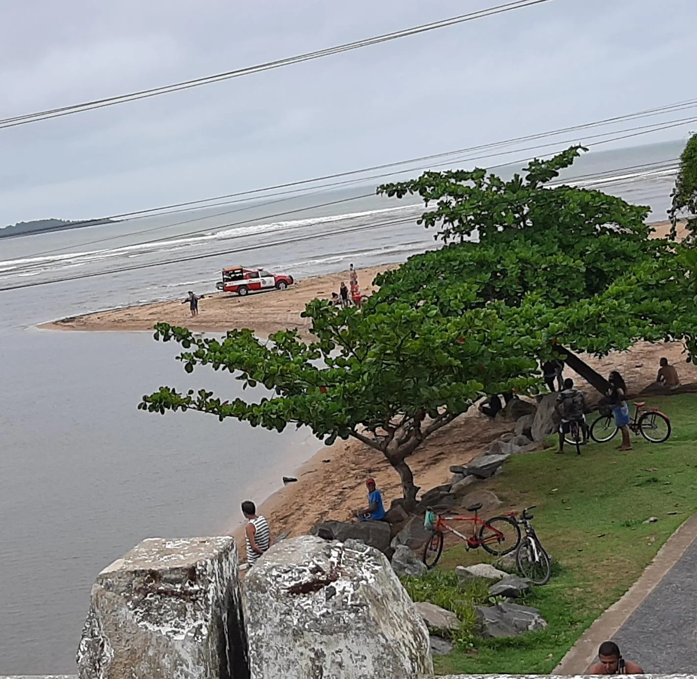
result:
M 613 641 L 648 673 L 697 673 L 697 540 Z

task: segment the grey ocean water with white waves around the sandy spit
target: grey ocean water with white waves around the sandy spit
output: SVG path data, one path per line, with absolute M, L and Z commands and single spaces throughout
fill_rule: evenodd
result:
M 648 204 L 659 221 L 681 149 L 666 142 L 594 151 L 563 178 Z M 205 293 L 233 264 L 304 278 L 401 262 L 438 246 L 415 223 L 421 212 L 413 197 L 388 200 L 374 186 L 308 188 L 0 239 L 0 674 L 74 672 L 100 569 L 144 537 L 229 528 L 241 500 L 261 502 L 321 445 L 302 430 L 140 412 L 141 396 L 163 384 L 230 398 L 239 387 L 213 371 L 186 375 L 176 347 L 150 333 L 37 324 Z M 104 271 L 112 273 L 94 275 Z

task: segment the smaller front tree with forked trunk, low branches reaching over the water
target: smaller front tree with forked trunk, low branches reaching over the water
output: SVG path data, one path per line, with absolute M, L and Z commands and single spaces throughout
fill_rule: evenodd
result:
M 435 306 L 397 302 L 362 313 L 316 299 L 303 315 L 312 320 L 313 343 L 300 341 L 296 331 L 263 343 L 251 330 L 217 340 L 158 324 L 156 339 L 185 349 L 178 358 L 187 372 L 208 365 L 234 373 L 245 388 L 263 385 L 268 391 L 252 403 L 161 387 L 139 408 L 199 410 L 277 431 L 304 425 L 328 445 L 337 437 L 356 438 L 395 468 L 410 506 L 418 487 L 408 457 L 424 440 L 482 393 L 537 389 L 530 340 L 517 338 L 487 309 L 447 317 Z

